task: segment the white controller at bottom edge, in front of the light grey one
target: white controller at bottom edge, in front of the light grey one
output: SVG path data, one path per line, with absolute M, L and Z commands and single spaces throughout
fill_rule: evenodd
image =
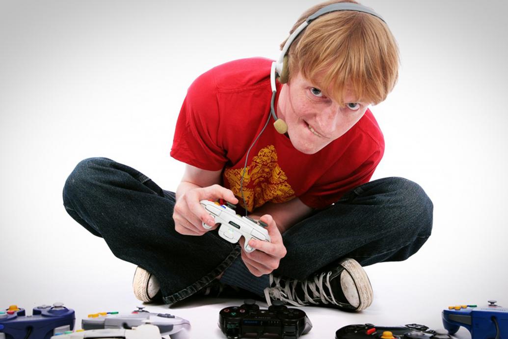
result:
M 161 339 L 161 332 L 155 325 L 141 325 L 133 329 L 93 329 L 53 335 L 50 339 L 83 339 L 83 338 L 125 338 L 125 339 Z

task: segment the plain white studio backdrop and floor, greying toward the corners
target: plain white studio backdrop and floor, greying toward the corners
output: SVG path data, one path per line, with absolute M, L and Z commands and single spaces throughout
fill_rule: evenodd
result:
M 0 305 L 63 301 L 79 320 L 138 304 L 134 265 L 63 209 L 67 175 L 105 156 L 176 189 L 183 165 L 169 151 L 189 84 L 232 59 L 276 58 L 315 3 L 0 0 Z M 386 138 L 374 178 L 420 183 L 434 230 L 409 260 L 366 268 L 375 293 L 367 311 L 306 307 L 309 339 L 350 323 L 438 328 L 443 307 L 457 303 L 508 306 L 508 5 L 364 4 L 385 17 L 402 61 L 397 87 L 372 108 Z M 192 337 L 219 338 L 218 310 L 238 302 L 188 301 L 171 312 L 192 322 Z

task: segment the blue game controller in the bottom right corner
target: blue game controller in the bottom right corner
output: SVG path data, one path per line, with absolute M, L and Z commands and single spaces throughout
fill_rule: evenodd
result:
M 471 332 L 471 339 L 508 339 L 508 309 L 489 300 L 489 305 L 450 306 L 443 310 L 443 326 L 455 334 L 460 326 Z

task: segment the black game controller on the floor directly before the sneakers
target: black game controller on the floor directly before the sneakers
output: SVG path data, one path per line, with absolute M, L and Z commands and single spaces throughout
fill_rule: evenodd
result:
M 312 328 L 305 312 L 289 309 L 280 300 L 273 301 L 268 310 L 260 310 L 252 299 L 241 306 L 220 310 L 219 328 L 228 338 L 240 338 L 245 334 L 276 335 L 282 339 L 296 339 Z

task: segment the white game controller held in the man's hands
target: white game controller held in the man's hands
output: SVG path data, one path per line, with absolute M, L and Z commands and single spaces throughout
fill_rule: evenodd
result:
M 270 241 L 270 236 L 266 229 L 267 224 L 261 220 L 256 221 L 249 217 L 241 217 L 241 215 L 236 214 L 234 210 L 235 205 L 230 203 L 220 205 L 218 202 L 209 200 L 201 200 L 200 204 L 213 217 L 215 224 L 220 224 L 218 232 L 221 238 L 231 243 L 238 242 L 241 236 L 245 238 L 245 243 L 243 245 L 245 252 L 250 253 L 254 251 L 254 249 L 249 246 L 249 240 L 252 238 Z M 211 226 L 205 223 L 202 224 L 207 230 L 211 228 Z

